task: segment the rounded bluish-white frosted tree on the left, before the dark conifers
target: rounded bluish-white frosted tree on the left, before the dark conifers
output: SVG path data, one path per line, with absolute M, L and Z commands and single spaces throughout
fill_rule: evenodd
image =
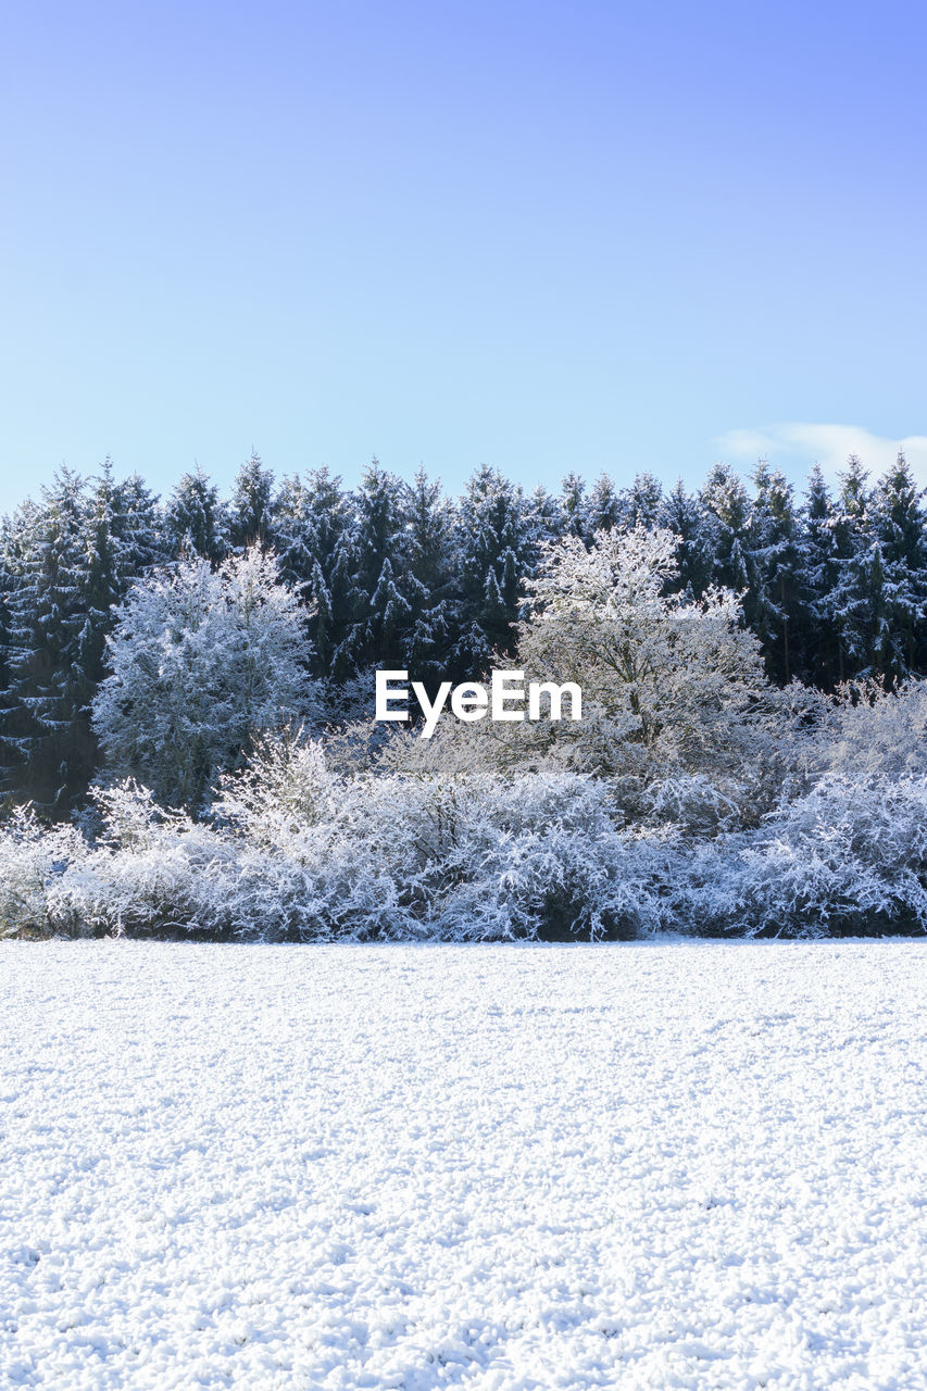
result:
M 191 559 L 141 580 L 118 609 L 109 655 L 111 675 L 93 700 L 107 771 L 170 805 L 199 807 L 255 732 L 310 698 L 302 612 L 258 548 L 219 570 Z

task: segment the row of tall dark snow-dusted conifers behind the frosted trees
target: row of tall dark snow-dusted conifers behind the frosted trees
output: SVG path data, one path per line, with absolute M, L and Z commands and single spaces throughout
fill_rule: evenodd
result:
M 358 488 L 327 469 L 276 481 L 260 458 L 231 495 L 185 474 L 159 499 L 138 476 L 63 469 L 0 524 L 0 776 L 11 800 L 67 815 L 100 754 L 90 704 L 110 672 L 107 636 L 134 581 L 178 561 L 212 566 L 255 542 L 273 549 L 302 606 L 306 673 L 331 718 L 369 694 L 372 668 L 433 687 L 511 654 L 546 545 L 601 531 L 667 529 L 670 593 L 742 595 L 768 677 L 832 690 L 885 689 L 927 672 L 923 494 L 899 453 L 870 483 L 850 456 L 831 491 L 820 472 L 796 497 L 760 463 L 752 485 L 715 465 L 704 485 L 664 491 L 650 474 L 618 488 L 575 473 L 526 492 L 482 466 L 459 498 L 423 470 L 405 483 L 374 459 Z

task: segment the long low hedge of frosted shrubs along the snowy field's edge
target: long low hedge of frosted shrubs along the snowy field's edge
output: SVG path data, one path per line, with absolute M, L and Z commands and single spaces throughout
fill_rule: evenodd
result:
M 676 768 L 650 780 L 633 821 L 614 779 L 544 757 L 480 766 L 476 746 L 451 740 L 448 758 L 430 743 L 399 737 L 331 768 L 302 732 L 269 734 L 248 766 L 220 779 L 210 823 L 131 780 L 97 789 L 92 846 L 21 811 L 0 835 L 3 931 L 241 940 L 927 931 L 924 776 L 828 771 L 754 825 L 740 779 Z

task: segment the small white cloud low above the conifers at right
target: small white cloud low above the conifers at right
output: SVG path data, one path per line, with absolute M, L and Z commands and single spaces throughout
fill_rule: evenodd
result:
M 721 458 L 731 463 L 754 465 L 757 459 L 768 459 L 784 472 L 807 473 L 817 460 L 830 477 L 846 466 L 848 455 L 857 453 L 871 477 L 877 479 L 895 462 L 898 451 L 903 449 L 917 481 L 927 484 L 927 435 L 888 440 L 860 426 L 818 426 L 789 420 L 756 430 L 728 430 L 713 442 L 721 451 Z

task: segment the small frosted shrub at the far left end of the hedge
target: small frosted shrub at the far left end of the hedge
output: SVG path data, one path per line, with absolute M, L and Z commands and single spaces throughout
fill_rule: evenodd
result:
M 82 932 L 82 919 L 58 912 L 53 897 L 85 853 L 72 826 L 43 826 L 31 808 L 17 808 L 0 826 L 0 936 Z

